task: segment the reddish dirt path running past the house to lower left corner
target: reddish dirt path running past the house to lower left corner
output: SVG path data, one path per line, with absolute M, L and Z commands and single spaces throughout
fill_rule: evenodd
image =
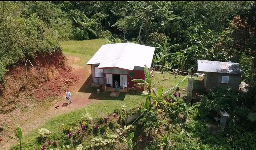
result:
M 49 118 L 71 112 L 72 110 L 79 109 L 93 102 L 92 99 L 88 99 L 90 93 L 79 92 L 83 86 L 85 80 L 91 74 L 90 70 L 85 70 L 82 66 L 76 65 L 75 62 L 79 61 L 78 57 L 67 56 L 68 63 L 73 68 L 72 73 L 79 76 L 79 80 L 75 85 L 69 87 L 71 91 L 72 103 L 69 105 L 63 105 L 65 102 L 65 91 L 62 96 L 52 102 L 44 104 L 35 104 L 33 109 L 23 112 L 21 109 L 16 109 L 9 114 L 4 114 L 3 118 L 9 119 L 8 126 L 10 130 L 5 134 L 13 135 L 12 131 L 19 123 L 23 130 L 23 135 L 26 135 L 33 129 L 43 125 Z M 59 106 L 58 109 L 54 109 L 55 106 Z M 6 136 L 0 137 L 0 150 L 9 149 L 15 140 L 9 139 Z

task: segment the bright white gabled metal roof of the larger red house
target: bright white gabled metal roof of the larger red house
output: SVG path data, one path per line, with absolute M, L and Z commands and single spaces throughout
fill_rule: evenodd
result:
M 134 66 L 150 68 L 155 48 L 134 43 L 102 45 L 87 62 L 87 65 L 100 64 L 99 68 L 117 67 L 133 70 Z

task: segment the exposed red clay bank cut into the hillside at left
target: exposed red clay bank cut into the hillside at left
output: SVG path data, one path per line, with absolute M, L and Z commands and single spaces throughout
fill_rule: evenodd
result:
M 71 67 L 61 53 L 39 55 L 36 59 L 20 62 L 9 70 L 4 83 L 0 84 L 0 114 L 13 111 L 17 104 L 26 103 L 29 97 L 40 101 L 60 95 L 79 79 L 71 74 Z

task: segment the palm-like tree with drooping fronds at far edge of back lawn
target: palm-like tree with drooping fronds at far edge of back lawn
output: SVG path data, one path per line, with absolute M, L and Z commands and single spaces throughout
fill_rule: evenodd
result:
M 74 29 L 75 38 L 77 39 L 89 39 L 89 33 L 94 36 L 98 36 L 96 28 L 98 27 L 98 23 L 95 19 L 95 16 L 91 18 L 87 17 L 84 13 L 82 13 L 82 17 L 75 19 L 75 22 L 78 24 L 79 27 Z

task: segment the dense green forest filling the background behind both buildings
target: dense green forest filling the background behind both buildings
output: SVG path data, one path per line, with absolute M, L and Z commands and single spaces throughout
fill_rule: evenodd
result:
M 241 63 L 246 82 L 252 83 L 256 78 L 252 75 L 256 66 L 255 2 L 24 1 L 2 2 L 1 8 L 1 38 L 8 42 L 14 42 L 10 38 L 17 36 L 30 39 L 33 33 L 38 39 L 43 37 L 42 42 L 48 38 L 50 48 L 45 46 L 44 49 L 55 47 L 55 39 L 108 38 L 112 43 L 130 41 L 148 46 L 157 43 L 166 45 L 167 49 L 155 51 L 154 64 L 188 70 L 196 68 L 197 59 L 232 61 Z M 32 16 L 34 25 L 30 26 L 40 24 L 44 32 L 25 27 Z M 16 26 L 18 23 L 21 25 Z M 23 35 L 5 34 L 11 29 Z M 34 35 L 34 32 L 38 33 Z M 27 45 L 25 47 L 30 47 Z M 12 56 L 3 58 L 10 62 L 0 63 L 1 77 L 6 66 L 29 56 L 21 50 L 12 52 L 12 49 L 16 48 L 8 53 Z

